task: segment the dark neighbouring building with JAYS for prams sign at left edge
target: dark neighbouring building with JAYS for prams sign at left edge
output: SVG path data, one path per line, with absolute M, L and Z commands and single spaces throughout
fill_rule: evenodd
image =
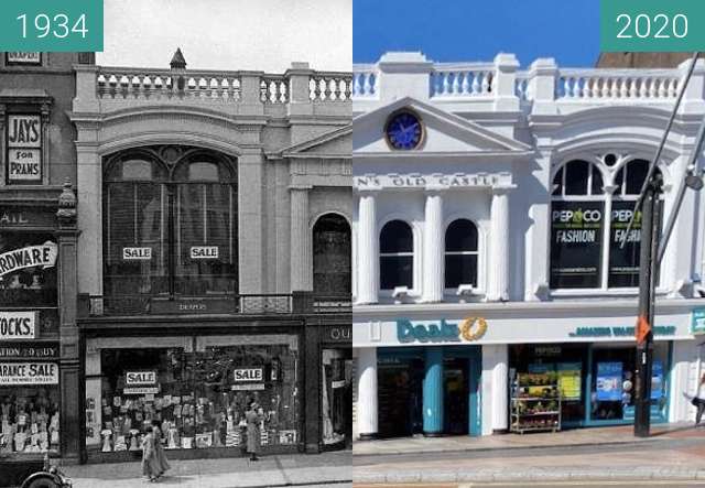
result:
M 0 457 L 77 459 L 74 65 L 0 53 Z

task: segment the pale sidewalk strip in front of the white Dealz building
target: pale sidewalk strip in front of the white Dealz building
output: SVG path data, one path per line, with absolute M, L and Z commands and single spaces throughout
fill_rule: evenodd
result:
M 632 425 L 609 427 L 573 429 L 562 432 L 503 434 L 469 437 L 402 437 L 383 441 L 358 441 L 354 443 L 355 456 L 375 456 L 414 453 L 445 453 L 458 451 L 503 451 L 546 447 L 572 447 L 589 445 L 639 444 L 663 440 L 703 436 L 705 426 L 693 429 L 692 423 L 657 424 L 650 437 L 634 437 Z

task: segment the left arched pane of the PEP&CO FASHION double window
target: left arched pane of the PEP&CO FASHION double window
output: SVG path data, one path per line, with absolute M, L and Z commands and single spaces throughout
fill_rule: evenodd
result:
M 551 288 L 599 288 L 605 198 L 599 169 L 575 160 L 558 170 L 551 203 Z

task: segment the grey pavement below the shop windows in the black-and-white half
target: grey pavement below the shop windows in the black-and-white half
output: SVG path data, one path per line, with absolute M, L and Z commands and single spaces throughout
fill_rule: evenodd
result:
M 178 488 L 259 488 L 259 487 L 350 487 L 350 451 L 317 455 L 264 456 L 247 458 L 170 460 L 170 469 L 155 484 L 141 476 L 140 463 L 66 466 L 63 471 L 74 488 L 133 488 L 135 486 L 176 486 Z

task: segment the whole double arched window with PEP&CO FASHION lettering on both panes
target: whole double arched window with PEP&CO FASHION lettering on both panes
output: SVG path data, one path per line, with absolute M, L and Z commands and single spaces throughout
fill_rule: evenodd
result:
M 626 288 L 639 284 L 641 217 L 621 248 L 649 162 L 606 154 L 605 173 L 615 192 L 606 193 L 596 163 L 571 161 L 553 180 L 551 205 L 551 288 Z M 657 170 L 658 171 L 658 170 Z M 609 218 L 606 217 L 609 213 Z M 609 239 L 607 239 L 609 238 Z M 606 265 L 604 265 L 604 263 Z

